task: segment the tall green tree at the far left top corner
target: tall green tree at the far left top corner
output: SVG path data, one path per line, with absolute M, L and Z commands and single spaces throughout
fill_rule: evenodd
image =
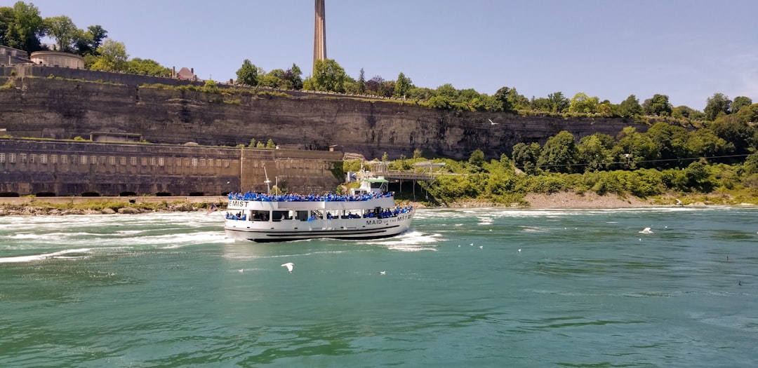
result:
M 6 17 L 9 15 L 8 11 L 4 13 Z M 45 36 L 45 22 L 34 4 L 16 2 L 12 19 L 0 28 L 5 28 L 4 45 L 27 52 L 42 50 L 39 39 Z

